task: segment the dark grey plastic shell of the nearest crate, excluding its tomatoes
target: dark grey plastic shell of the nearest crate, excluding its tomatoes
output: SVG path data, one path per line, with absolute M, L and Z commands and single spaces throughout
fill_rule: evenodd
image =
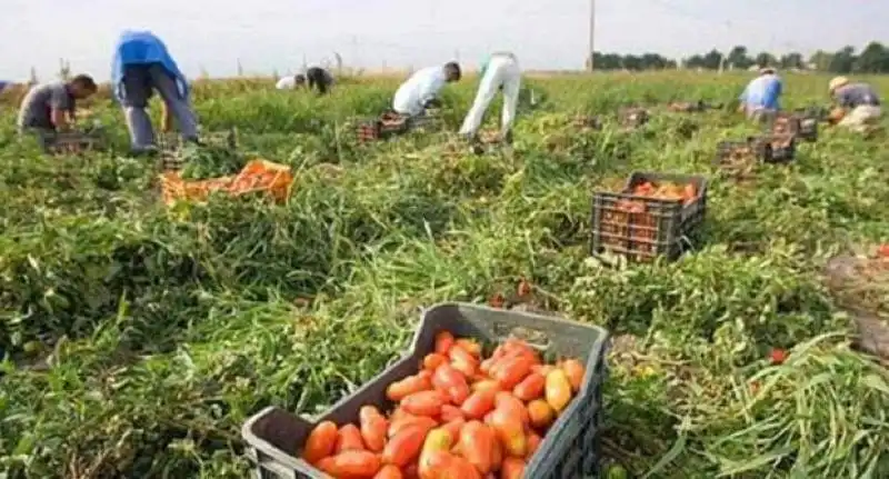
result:
M 247 420 L 241 435 L 247 456 L 260 479 L 324 478 L 296 455 L 312 428 L 322 420 L 337 425 L 357 422 L 359 409 L 374 405 L 391 408 L 386 388 L 418 371 L 421 359 L 434 349 L 439 331 L 458 337 L 499 342 L 516 336 L 542 349 L 545 356 L 580 359 L 587 373 L 578 395 L 559 416 L 528 462 L 526 478 L 571 479 L 600 477 L 602 382 L 608 331 L 602 328 L 529 312 L 508 311 L 468 303 L 436 305 L 422 315 L 408 352 L 370 382 L 312 420 L 269 407 Z

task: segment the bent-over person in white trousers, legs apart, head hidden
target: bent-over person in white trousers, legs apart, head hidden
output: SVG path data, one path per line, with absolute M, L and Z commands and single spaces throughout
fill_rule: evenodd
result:
M 500 118 L 501 138 L 508 139 L 512 122 L 516 119 L 516 107 L 519 102 L 519 91 L 521 90 L 521 70 L 516 56 L 508 52 L 491 54 L 481 63 L 481 82 L 479 91 L 476 93 L 476 101 L 469 109 L 463 124 L 460 127 L 460 134 L 475 138 L 485 118 L 485 111 L 491 104 L 491 100 L 498 91 L 503 91 L 503 111 Z

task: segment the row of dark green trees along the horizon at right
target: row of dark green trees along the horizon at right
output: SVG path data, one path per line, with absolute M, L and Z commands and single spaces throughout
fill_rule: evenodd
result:
M 775 54 L 767 51 L 751 54 L 747 47 L 736 46 L 728 52 L 710 50 L 703 54 L 692 54 L 680 61 L 658 53 L 618 54 L 596 52 L 592 57 L 597 70 L 662 70 L 689 69 L 741 69 L 755 67 L 778 67 L 785 70 L 813 70 L 833 73 L 889 73 L 889 47 L 872 41 L 861 52 L 855 47 L 845 47 L 835 52 L 818 50 L 809 58 L 799 52 Z

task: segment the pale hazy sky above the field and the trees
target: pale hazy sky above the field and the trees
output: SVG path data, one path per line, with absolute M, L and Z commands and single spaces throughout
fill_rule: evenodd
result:
M 671 58 L 860 49 L 889 43 L 883 0 L 595 0 L 596 50 Z M 59 70 L 110 77 L 123 29 L 160 36 L 187 76 L 298 71 L 332 62 L 368 69 L 421 68 L 511 50 L 526 69 L 578 69 L 589 46 L 590 0 L 0 0 L 0 79 Z M 18 39 L 18 40 L 16 40 Z M 11 43 L 12 41 L 16 43 Z

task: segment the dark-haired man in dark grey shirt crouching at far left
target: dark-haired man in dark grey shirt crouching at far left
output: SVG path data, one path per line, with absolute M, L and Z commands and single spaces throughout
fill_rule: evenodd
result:
M 46 146 L 74 121 L 77 100 L 90 97 L 96 90 L 96 82 L 88 74 L 32 87 L 21 101 L 19 132 L 37 133 Z

